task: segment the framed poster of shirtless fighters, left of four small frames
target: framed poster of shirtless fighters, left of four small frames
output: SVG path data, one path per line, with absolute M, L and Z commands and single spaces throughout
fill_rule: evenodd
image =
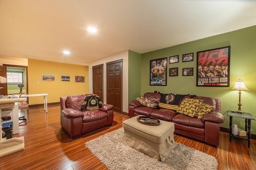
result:
M 166 86 L 167 85 L 167 57 L 150 60 L 150 85 Z

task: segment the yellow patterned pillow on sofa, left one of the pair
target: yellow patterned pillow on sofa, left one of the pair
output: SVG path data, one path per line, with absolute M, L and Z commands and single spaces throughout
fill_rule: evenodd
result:
M 203 103 L 203 100 L 198 99 L 184 99 L 177 112 L 181 114 L 188 115 L 190 117 L 195 117 L 198 112 L 199 106 Z

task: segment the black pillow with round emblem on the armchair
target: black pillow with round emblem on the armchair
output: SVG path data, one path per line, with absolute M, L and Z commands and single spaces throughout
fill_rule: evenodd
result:
M 82 103 L 81 110 L 99 110 L 102 101 L 98 95 L 88 95 Z

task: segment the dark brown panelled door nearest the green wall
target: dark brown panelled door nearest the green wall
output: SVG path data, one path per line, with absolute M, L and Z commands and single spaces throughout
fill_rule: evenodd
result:
M 114 111 L 122 112 L 122 60 L 106 63 L 106 99 Z

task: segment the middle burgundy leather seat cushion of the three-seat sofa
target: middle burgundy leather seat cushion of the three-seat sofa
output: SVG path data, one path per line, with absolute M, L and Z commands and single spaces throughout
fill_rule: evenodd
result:
M 167 109 L 159 109 L 151 112 L 152 117 L 165 120 L 165 121 L 171 121 L 173 117 L 176 115 L 177 113 L 175 111 L 167 110 Z

